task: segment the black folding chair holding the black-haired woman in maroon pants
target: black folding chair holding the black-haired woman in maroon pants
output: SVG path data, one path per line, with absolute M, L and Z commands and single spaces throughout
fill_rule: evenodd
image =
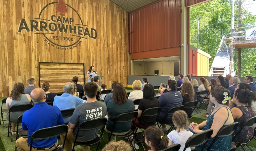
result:
M 135 122 L 134 122 L 133 125 L 132 125 L 132 127 L 134 127 L 135 132 L 134 132 L 134 137 L 132 138 L 132 140 L 131 140 L 130 142 L 132 142 L 133 140 L 138 140 L 139 143 L 142 145 L 144 151 L 146 151 L 146 150 L 145 150 L 145 148 L 144 148 L 144 146 L 143 146 L 142 142 L 140 141 L 139 136 L 138 136 L 138 134 L 137 134 L 138 129 L 143 129 L 143 128 L 140 127 L 141 121 L 143 121 L 143 119 L 144 119 L 145 117 L 151 117 L 151 118 L 156 118 L 156 119 L 157 119 L 158 115 L 159 115 L 160 112 L 161 112 L 161 109 L 162 109 L 162 108 L 159 106 L 159 107 L 153 107 L 153 108 L 148 108 L 148 109 L 144 110 L 143 115 L 142 115 L 141 118 L 140 118 L 140 121 L 139 121 L 138 126 L 134 127 L 134 123 L 135 123 Z M 135 121 L 136 121 L 136 120 L 137 120 L 137 119 L 135 119 Z M 137 139 L 134 139 L 135 137 L 136 137 Z

